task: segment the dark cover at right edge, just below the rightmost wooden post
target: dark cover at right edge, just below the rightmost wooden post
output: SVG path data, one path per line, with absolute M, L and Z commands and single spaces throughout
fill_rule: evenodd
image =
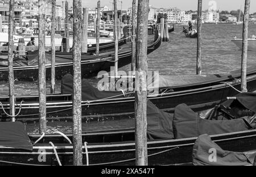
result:
M 236 95 L 236 100 L 240 102 L 245 108 L 250 109 L 256 113 L 256 93 L 244 92 Z M 222 103 L 225 107 L 229 107 L 235 100 L 227 100 Z

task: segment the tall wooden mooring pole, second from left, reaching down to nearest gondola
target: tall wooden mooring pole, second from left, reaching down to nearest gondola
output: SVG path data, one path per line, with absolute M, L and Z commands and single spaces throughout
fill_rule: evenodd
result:
M 46 0 L 39 0 L 39 132 L 46 132 Z

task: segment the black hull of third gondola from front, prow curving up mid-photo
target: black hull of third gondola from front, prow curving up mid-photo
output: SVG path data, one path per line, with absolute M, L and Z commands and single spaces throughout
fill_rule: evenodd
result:
M 156 36 L 154 43 L 148 45 L 147 53 L 150 54 L 158 49 L 162 41 L 160 35 Z M 57 54 L 61 53 L 56 53 Z M 68 53 L 72 56 L 72 53 Z M 114 66 L 114 51 L 106 51 L 100 56 L 93 56 L 82 54 L 84 59 L 81 60 L 81 76 L 82 78 L 96 77 L 100 71 L 110 71 L 110 66 Z M 121 68 L 131 62 L 131 48 L 123 47 L 118 51 L 118 67 Z M 55 64 L 55 78 L 61 79 L 67 73 L 73 74 L 73 61 Z M 14 78 L 19 81 L 22 80 L 37 80 L 38 79 L 38 66 L 15 66 Z M 51 79 L 51 65 L 46 66 L 46 79 Z M 8 68 L 0 68 L 0 81 L 8 81 Z

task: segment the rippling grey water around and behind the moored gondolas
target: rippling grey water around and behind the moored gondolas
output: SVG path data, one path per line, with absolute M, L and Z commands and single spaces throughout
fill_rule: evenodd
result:
M 197 39 L 184 36 L 181 32 L 183 26 L 175 26 L 175 32 L 171 33 L 170 41 L 163 43 L 155 52 L 148 55 L 148 69 L 159 71 L 164 75 L 195 74 L 196 73 L 196 48 Z M 241 68 L 242 51 L 232 43 L 234 36 L 242 37 L 242 25 L 234 24 L 203 24 L 202 27 L 202 70 L 203 74 L 228 73 Z M 249 25 L 249 37 L 256 35 L 256 24 Z M 152 39 L 152 35 L 149 36 Z M 248 66 L 256 65 L 256 52 L 248 52 Z M 127 65 L 121 70 L 128 71 Z M 94 85 L 97 79 L 89 79 Z M 8 95 L 8 84 L 0 83 L 2 95 Z M 37 82 L 16 83 L 16 93 L 38 94 Z M 50 82 L 47 82 L 49 93 Z M 60 92 L 60 81 L 57 82 L 57 92 Z M 83 123 L 82 129 L 106 130 L 134 127 L 133 119 L 108 120 L 102 122 Z M 26 125 L 28 132 L 38 133 L 38 124 Z M 48 122 L 48 132 L 60 130 L 72 133 L 72 123 Z

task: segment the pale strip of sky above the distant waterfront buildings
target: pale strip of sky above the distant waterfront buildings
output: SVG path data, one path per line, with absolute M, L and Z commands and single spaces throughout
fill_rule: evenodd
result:
M 64 1 L 64 0 L 63 0 Z M 68 0 L 70 6 L 72 6 L 72 0 Z M 101 0 L 101 6 L 108 6 L 112 8 L 113 0 Z M 128 9 L 131 7 L 132 0 L 122 0 L 122 9 Z M 138 0 L 137 0 L 138 2 Z M 197 10 L 197 0 L 150 0 L 150 5 L 156 8 L 160 7 L 177 7 L 181 10 Z M 57 0 L 57 3 L 62 5 L 61 0 Z M 121 9 L 121 0 L 117 0 L 118 9 Z M 245 0 L 203 0 L 203 10 L 209 9 L 209 7 L 217 7 L 217 10 L 237 10 L 244 9 Z M 96 7 L 97 0 L 82 0 L 83 7 Z M 252 0 L 250 5 L 250 14 L 256 12 L 256 1 Z

